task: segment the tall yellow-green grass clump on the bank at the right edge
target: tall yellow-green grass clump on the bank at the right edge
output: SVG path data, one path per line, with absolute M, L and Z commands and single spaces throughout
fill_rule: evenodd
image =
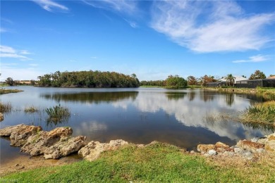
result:
M 275 101 L 267 101 L 250 106 L 243 111 L 243 122 L 257 122 L 275 125 Z

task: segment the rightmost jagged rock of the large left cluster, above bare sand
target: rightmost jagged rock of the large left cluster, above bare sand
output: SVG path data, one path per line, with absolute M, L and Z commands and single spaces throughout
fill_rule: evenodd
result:
M 85 139 L 86 137 L 84 136 L 73 138 L 63 137 L 60 141 L 54 144 L 54 146 L 50 146 L 49 148 L 44 150 L 44 158 L 58 159 L 74 153 L 85 146 Z

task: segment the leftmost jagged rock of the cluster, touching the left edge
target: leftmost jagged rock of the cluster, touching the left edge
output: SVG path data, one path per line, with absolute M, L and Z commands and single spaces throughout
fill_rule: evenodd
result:
M 11 146 L 23 146 L 27 139 L 42 131 L 42 127 L 32 125 L 16 125 L 0 130 L 1 137 L 10 137 Z

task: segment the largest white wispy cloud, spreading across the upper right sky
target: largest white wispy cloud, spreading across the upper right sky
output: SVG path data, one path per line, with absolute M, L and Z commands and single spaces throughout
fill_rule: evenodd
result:
M 261 34 L 274 13 L 245 15 L 234 1 L 155 1 L 152 28 L 196 52 L 260 49 L 274 41 Z

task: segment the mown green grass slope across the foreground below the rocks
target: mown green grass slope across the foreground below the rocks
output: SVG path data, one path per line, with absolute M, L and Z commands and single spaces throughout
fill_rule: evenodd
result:
M 257 180 L 253 175 L 261 172 L 252 170 L 246 175 L 235 167 L 221 168 L 201 156 L 190 156 L 175 146 L 157 143 L 107 151 L 93 162 L 82 160 L 14 173 L 2 177 L 0 182 L 271 182 L 275 178 L 274 174 L 263 174 Z

